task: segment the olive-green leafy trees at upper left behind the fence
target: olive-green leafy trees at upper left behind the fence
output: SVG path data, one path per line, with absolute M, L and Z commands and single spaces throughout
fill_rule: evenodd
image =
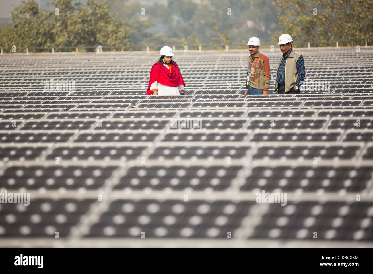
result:
M 129 30 L 110 12 L 108 1 L 55 0 L 53 10 L 35 0 L 23 1 L 12 12 L 13 28 L 1 32 L 1 47 L 82 47 L 128 45 Z M 58 10 L 56 10 L 58 9 Z

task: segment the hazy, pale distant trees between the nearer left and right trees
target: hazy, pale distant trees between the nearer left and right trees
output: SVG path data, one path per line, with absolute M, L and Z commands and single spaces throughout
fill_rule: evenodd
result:
M 131 43 L 136 45 L 182 45 L 185 42 L 194 45 L 196 41 L 229 44 L 214 31 L 213 22 L 226 40 L 236 44 L 252 36 L 263 41 L 277 36 L 280 9 L 272 5 L 272 1 L 168 0 L 163 4 L 161 1 L 110 0 L 110 7 L 118 11 L 118 18 L 128 22 Z M 141 15 L 142 8 L 145 15 Z M 191 35 L 194 42 L 188 38 Z

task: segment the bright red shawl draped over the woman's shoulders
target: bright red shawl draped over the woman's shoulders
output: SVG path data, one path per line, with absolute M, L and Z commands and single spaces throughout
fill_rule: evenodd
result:
M 155 63 L 153 67 L 151 67 L 147 91 L 150 90 L 150 86 L 151 84 L 153 84 L 154 81 L 157 81 L 158 83 L 166 86 L 185 86 L 185 82 L 183 76 L 181 75 L 179 66 L 173 61 L 171 65 L 171 71 L 172 72 L 170 73 L 170 69 L 168 66 L 165 67 L 161 63 Z

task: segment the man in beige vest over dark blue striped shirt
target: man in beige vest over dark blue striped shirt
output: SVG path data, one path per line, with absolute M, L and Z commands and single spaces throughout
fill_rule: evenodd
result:
M 279 37 L 278 45 L 283 53 L 276 72 L 275 91 L 278 94 L 299 94 L 305 78 L 303 56 L 292 49 L 293 40 L 289 34 Z

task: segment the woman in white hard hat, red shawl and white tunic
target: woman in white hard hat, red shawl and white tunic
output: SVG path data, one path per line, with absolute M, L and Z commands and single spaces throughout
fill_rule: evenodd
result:
M 147 95 L 179 95 L 184 94 L 185 82 L 181 75 L 179 66 L 172 61 L 170 47 L 163 47 L 160 51 L 161 57 L 153 65 L 150 71 L 150 79 Z

